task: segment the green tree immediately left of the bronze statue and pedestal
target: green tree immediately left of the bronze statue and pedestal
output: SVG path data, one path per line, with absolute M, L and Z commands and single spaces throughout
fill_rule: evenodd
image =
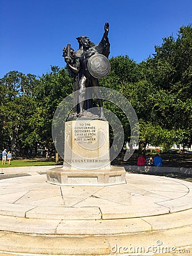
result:
M 73 92 L 73 80 L 65 68 L 51 67 L 51 72 L 39 77 L 39 84 L 34 90 L 34 97 L 39 108 L 43 125 L 39 127 L 40 143 L 49 150 L 54 150 L 52 140 L 52 120 L 57 106 Z

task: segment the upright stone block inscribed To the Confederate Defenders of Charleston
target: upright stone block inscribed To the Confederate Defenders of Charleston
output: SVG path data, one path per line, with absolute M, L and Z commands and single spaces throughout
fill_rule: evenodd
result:
M 65 123 L 66 170 L 110 168 L 108 122 L 101 120 Z

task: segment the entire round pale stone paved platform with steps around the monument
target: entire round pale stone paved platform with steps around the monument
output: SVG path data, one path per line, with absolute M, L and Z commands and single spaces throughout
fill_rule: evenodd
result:
M 192 255 L 192 183 L 127 173 L 127 184 L 58 186 L 50 167 L 28 168 L 0 180 L 1 256 Z

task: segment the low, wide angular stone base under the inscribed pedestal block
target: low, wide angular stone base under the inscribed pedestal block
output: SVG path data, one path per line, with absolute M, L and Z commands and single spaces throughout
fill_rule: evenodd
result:
M 66 170 L 58 167 L 47 171 L 48 183 L 56 185 L 103 186 L 126 183 L 124 167 L 99 170 Z

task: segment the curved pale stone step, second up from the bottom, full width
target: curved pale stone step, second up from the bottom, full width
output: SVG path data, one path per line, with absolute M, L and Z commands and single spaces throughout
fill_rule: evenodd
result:
M 116 220 L 50 220 L 0 215 L 4 232 L 101 235 L 149 232 L 192 225 L 192 209 L 177 213 Z

